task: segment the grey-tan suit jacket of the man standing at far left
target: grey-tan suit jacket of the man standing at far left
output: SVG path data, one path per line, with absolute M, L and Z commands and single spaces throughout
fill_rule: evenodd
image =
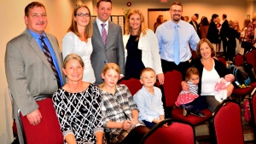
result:
M 61 68 L 63 61 L 58 41 L 53 35 L 46 33 L 46 36 Z M 58 89 L 55 74 L 44 52 L 27 29 L 7 43 L 5 72 L 13 95 L 14 118 L 17 118 L 18 109 L 23 116 L 38 109 L 34 96 L 53 95 Z M 64 79 L 62 72 L 61 78 Z

